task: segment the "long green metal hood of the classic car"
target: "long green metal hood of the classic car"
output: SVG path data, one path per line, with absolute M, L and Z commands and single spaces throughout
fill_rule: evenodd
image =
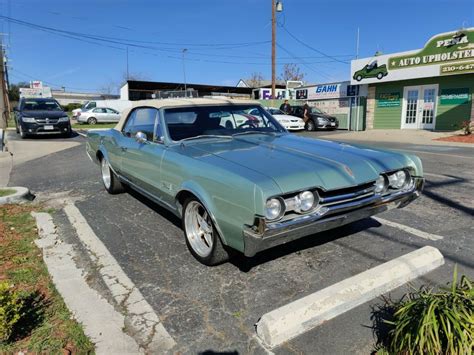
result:
M 377 179 L 380 173 L 416 164 L 406 155 L 294 135 L 236 137 L 231 141 L 193 142 L 197 159 L 214 157 L 234 173 L 246 169 L 272 179 L 282 193 L 304 188 L 350 187 Z

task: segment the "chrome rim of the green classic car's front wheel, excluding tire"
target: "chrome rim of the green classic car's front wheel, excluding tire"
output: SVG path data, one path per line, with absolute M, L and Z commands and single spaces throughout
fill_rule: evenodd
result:
M 199 202 L 191 201 L 187 204 L 184 225 L 191 248 L 200 257 L 209 256 L 214 246 L 212 220 Z

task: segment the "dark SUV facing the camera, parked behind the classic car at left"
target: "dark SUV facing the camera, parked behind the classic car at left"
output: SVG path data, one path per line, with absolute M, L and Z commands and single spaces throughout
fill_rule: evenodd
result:
M 15 109 L 16 132 L 21 138 L 36 134 L 71 135 L 71 121 L 52 98 L 21 98 Z

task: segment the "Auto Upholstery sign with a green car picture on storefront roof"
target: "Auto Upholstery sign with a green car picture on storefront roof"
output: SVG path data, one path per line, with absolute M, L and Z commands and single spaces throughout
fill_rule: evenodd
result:
M 423 49 L 351 62 L 351 84 L 474 73 L 474 28 L 432 37 Z

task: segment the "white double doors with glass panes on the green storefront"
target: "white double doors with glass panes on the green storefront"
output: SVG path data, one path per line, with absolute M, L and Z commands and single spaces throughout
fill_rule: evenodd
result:
M 434 129 L 438 85 L 405 86 L 402 128 Z

